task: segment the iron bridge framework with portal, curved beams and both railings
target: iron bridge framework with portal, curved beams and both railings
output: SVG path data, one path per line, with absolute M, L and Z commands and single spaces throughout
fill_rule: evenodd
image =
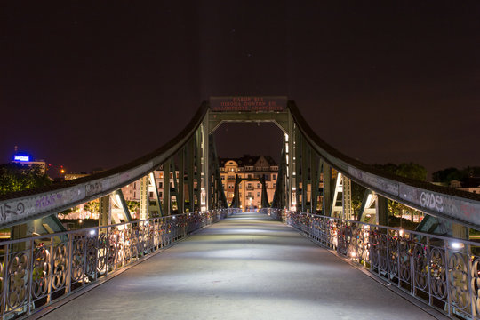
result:
M 443 301 L 449 314 L 461 309 L 462 315 L 476 316 L 476 246 L 466 237 L 468 228 L 480 229 L 480 195 L 390 175 L 341 154 L 316 135 L 286 97 L 213 97 L 173 140 L 131 163 L 0 197 L 0 228 L 12 228 L 12 240 L 4 242 L 0 252 L 4 318 L 28 315 L 235 212 L 228 208 L 212 140 L 212 132 L 228 122 L 273 122 L 284 132 L 276 192 L 271 204 L 262 199 L 271 208 L 264 210 L 373 272 L 390 275 L 398 285 L 408 283 L 412 294 L 428 292 L 429 302 Z M 173 174 L 171 188 L 170 173 L 176 168 L 179 175 Z M 159 169 L 164 172 L 163 203 L 153 174 Z M 140 221 L 131 219 L 121 189 L 136 180 Z M 352 183 L 366 189 L 356 214 Z M 156 211 L 151 210 L 150 192 Z M 236 189 L 236 198 L 237 194 Z M 175 215 L 173 196 L 179 213 Z M 121 224 L 111 225 L 111 198 L 124 209 Z M 100 199 L 98 228 L 61 229 L 59 212 L 95 199 Z M 436 231 L 436 237 L 388 228 L 388 200 L 424 212 L 423 230 Z M 362 222 L 367 214 L 375 218 L 374 224 Z M 59 232 L 22 239 L 39 224 Z M 452 252 L 449 248 L 456 243 L 461 245 Z

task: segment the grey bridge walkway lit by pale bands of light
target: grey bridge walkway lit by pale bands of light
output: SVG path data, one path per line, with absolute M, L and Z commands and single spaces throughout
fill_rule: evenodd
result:
M 259 213 L 238 213 L 42 319 L 434 319 Z

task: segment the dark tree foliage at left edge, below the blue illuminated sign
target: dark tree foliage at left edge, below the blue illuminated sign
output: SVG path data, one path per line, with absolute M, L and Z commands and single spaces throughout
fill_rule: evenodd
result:
M 0 164 L 0 195 L 51 184 L 52 180 L 42 173 L 41 167 L 37 164 L 32 166 Z

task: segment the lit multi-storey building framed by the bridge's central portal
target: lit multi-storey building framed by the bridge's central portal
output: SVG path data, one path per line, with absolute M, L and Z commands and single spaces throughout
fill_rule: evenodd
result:
M 220 176 L 227 197 L 228 204 L 235 196 L 235 177 L 258 179 L 265 177 L 267 184 L 268 203 L 271 203 L 275 194 L 278 164 L 271 156 L 244 155 L 239 158 L 220 158 Z M 260 181 L 243 181 L 239 185 L 238 196 L 240 204 L 245 207 L 261 206 Z

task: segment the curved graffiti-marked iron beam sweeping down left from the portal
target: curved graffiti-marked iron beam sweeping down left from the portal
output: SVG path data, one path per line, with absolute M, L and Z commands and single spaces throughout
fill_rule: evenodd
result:
M 28 189 L 0 196 L 0 227 L 38 219 L 83 204 L 140 179 L 174 156 L 195 134 L 209 108 L 204 101 L 185 128 L 155 151 L 106 172 L 69 180 L 49 187 Z

